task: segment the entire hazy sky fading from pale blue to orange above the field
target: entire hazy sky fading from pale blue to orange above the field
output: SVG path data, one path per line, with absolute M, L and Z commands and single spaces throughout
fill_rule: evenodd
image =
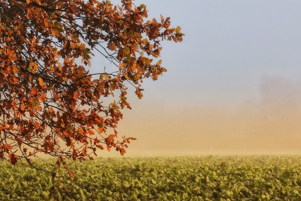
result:
M 129 95 L 126 155 L 301 153 L 300 1 L 134 3 L 185 36 L 161 43 L 168 72 L 143 82 L 141 100 Z

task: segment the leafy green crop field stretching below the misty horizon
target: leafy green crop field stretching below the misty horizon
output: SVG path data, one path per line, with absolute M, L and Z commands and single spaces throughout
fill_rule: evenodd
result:
M 50 161 L 40 165 L 51 168 Z M 301 156 L 97 158 L 70 162 L 57 200 L 301 200 Z M 0 200 L 51 200 L 51 177 L 0 163 Z M 65 187 L 65 188 L 64 188 Z

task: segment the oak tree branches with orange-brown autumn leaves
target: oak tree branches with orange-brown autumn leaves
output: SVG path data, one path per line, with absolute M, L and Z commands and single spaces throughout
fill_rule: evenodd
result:
M 160 41 L 182 41 L 180 27 L 146 20 L 146 6 L 131 0 L 3 0 L 0 14 L 1 160 L 31 164 L 39 152 L 58 163 L 92 160 L 104 148 L 123 155 L 135 139 L 117 139 L 127 86 L 142 98 L 142 80 L 166 71 Z M 115 70 L 90 73 L 93 52 Z

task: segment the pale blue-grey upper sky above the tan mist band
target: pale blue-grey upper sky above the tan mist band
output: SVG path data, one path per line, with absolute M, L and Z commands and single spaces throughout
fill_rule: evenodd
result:
M 150 18 L 170 16 L 185 33 L 182 43 L 162 43 L 168 72 L 145 86 L 156 101 L 238 104 L 260 98 L 263 75 L 301 77 L 300 1 L 134 2 L 145 3 Z

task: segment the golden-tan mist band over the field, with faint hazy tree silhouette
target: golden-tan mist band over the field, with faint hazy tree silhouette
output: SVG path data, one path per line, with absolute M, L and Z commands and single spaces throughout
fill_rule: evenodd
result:
M 203 107 L 134 107 L 124 111 L 118 131 L 137 138 L 128 156 L 300 154 L 300 84 L 263 75 L 260 99 L 236 106 L 220 100 Z

